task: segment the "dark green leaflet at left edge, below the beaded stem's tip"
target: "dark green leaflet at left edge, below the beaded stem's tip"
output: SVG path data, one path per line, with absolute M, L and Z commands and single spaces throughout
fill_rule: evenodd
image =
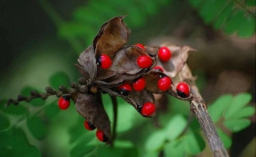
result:
M 12 115 L 24 115 L 28 113 L 28 109 L 22 104 L 19 103 L 18 106 L 10 105 L 7 108 L 5 108 L 5 103 L 7 100 L 0 100 L 0 110 L 4 113 L 12 114 Z

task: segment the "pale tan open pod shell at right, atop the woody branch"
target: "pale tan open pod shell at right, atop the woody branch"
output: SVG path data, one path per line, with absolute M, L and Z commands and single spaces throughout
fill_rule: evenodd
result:
M 157 59 L 157 65 L 162 66 L 164 68 L 164 73 L 169 77 L 175 77 L 185 65 L 189 52 L 196 51 L 196 49 L 189 46 L 177 46 L 169 42 L 163 43 L 161 46 L 168 47 L 172 52 L 172 57 L 168 62 L 161 62 Z

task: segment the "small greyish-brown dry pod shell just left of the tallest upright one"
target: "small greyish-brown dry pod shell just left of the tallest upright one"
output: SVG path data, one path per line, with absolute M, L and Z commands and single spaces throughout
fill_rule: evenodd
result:
M 85 77 L 89 82 L 93 82 L 97 70 L 93 46 L 91 45 L 86 50 L 84 50 L 80 54 L 79 59 L 77 61 L 80 64 L 80 66 L 77 64 L 75 64 L 75 66 L 78 68 L 82 76 Z

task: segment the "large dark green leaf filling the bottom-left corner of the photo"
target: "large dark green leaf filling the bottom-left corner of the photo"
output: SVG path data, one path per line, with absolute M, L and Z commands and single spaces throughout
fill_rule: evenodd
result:
M 40 156 L 40 151 L 30 145 L 25 133 L 20 128 L 11 128 L 0 132 L 1 156 Z

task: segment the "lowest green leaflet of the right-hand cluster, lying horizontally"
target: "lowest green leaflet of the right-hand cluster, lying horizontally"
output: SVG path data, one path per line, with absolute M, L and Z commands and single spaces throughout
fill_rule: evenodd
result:
M 224 121 L 224 126 L 231 132 L 237 133 L 248 127 L 250 123 L 251 121 L 249 119 L 230 119 Z

